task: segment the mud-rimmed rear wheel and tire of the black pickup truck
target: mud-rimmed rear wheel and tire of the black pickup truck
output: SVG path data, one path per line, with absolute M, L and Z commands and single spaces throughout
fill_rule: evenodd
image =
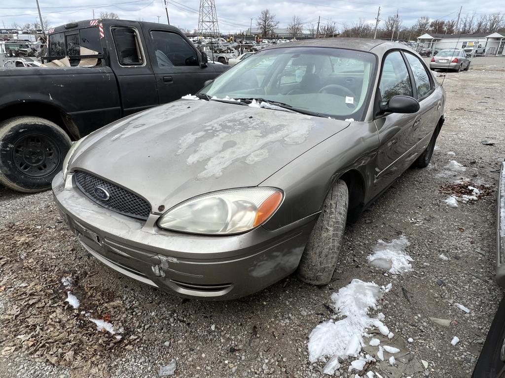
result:
M 47 119 L 15 117 L 0 123 L 0 184 L 24 193 L 50 189 L 71 144 Z

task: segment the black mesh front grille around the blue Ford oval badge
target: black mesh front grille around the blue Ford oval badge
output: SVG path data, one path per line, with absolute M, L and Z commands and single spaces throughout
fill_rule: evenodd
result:
M 81 192 L 103 207 L 138 219 L 147 219 L 151 212 L 151 207 L 147 201 L 118 185 L 83 171 L 75 171 L 74 177 L 75 183 Z M 109 193 L 108 200 L 103 200 L 95 194 L 97 186 Z

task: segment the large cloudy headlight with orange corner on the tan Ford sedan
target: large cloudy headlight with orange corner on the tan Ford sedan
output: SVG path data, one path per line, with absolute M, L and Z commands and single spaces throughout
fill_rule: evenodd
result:
M 199 234 L 233 234 L 263 224 L 279 208 L 283 192 L 271 187 L 230 189 L 185 201 L 158 221 L 161 228 Z

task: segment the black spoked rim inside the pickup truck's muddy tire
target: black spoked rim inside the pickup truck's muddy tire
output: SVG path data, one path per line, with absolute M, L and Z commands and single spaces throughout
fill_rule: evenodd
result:
M 60 149 L 44 135 L 30 134 L 18 139 L 12 148 L 16 169 L 27 177 L 38 178 L 53 173 L 60 164 Z

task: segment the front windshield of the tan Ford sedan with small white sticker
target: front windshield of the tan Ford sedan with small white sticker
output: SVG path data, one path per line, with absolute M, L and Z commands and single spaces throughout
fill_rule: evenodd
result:
M 294 111 L 362 120 L 375 61 L 375 55 L 355 50 L 269 49 L 249 56 L 201 93 L 217 98 L 264 99 Z

